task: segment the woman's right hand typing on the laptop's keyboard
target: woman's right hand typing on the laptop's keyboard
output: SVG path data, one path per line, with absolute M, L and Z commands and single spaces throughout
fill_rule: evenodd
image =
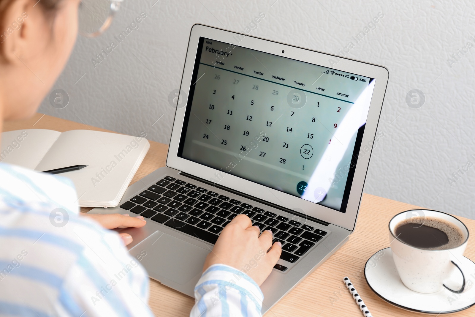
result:
M 280 242 L 272 245 L 271 231 L 259 236 L 259 228 L 251 225 L 249 217 L 237 215 L 219 235 L 206 257 L 203 271 L 213 264 L 226 264 L 246 273 L 260 286 L 276 265 L 281 251 Z

